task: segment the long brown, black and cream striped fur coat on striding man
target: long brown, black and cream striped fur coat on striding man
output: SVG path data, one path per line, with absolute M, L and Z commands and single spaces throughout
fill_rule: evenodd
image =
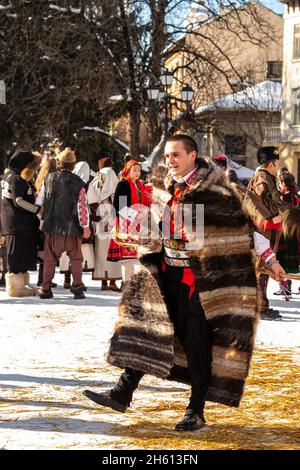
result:
M 203 159 L 198 165 L 198 176 L 181 201 L 204 204 L 204 245 L 189 254 L 213 341 L 212 376 L 206 399 L 238 406 L 249 371 L 257 321 L 252 236 L 239 199 L 222 170 Z M 170 198 L 172 183 L 166 180 L 165 186 L 168 192 L 154 190 L 154 202 L 157 195 L 164 202 Z M 159 219 L 161 214 L 155 207 Z M 118 367 L 190 383 L 186 356 L 174 337 L 160 284 L 162 240 L 145 240 L 139 252 L 142 269 L 123 294 L 108 361 Z

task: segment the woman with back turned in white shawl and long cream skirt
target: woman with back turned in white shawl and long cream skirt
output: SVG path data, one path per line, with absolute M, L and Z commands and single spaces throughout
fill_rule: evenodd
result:
M 119 180 L 109 157 L 100 158 L 98 165 L 99 173 L 91 182 L 87 194 L 95 233 L 93 280 L 101 280 L 101 290 L 118 292 L 120 289 L 116 281 L 122 278 L 121 263 L 108 261 L 107 253 L 111 241 L 110 232 L 115 223 L 112 201 Z

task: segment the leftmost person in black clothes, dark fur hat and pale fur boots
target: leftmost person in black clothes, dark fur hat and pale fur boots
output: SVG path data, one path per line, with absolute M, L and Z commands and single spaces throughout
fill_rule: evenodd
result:
M 7 249 L 6 291 L 12 297 L 35 295 L 28 271 L 36 270 L 39 206 L 31 182 L 41 162 L 38 154 L 16 152 L 2 179 L 1 230 Z

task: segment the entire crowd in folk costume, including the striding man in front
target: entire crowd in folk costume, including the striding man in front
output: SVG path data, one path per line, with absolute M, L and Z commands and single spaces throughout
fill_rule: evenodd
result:
M 247 185 L 228 172 L 225 156 L 200 158 L 188 135 L 168 138 L 164 155 L 164 187 L 161 181 L 156 187 L 156 175 L 152 186 L 145 184 L 136 160 L 118 179 L 110 158 L 101 158 L 93 178 L 65 148 L 35 178 L 40 155 L 13 155 L 1 183 L 2 271 L 9 295 L 33 295 L 28 271 L 39 258 L 42 299 L 53 297 L 58 264 L 75 299 L 85 297 L 83 270 L 102 281 L 102 290 L 119 290 L 122 279 L 108 361 L 124 372 L 111 390 L 84 394 L 125 412 L 144 374 L 189 383 L 186 413 L 175 428 L 193 431 L 204 426 L 207 400 L 239 405 L 256 322 L 280 318 L 269 307 L 267 280 L 286 289 L 287 273 L 299 272 L 299 198 L 274 147 L 259 149 Z M 145 214 L 158 237 L 139 236 Z

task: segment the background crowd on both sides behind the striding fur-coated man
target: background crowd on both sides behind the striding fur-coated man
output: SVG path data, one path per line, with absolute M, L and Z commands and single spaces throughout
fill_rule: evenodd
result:
M 76 299 L 85 297 L 82 272 L 101 281 L 103 291 L 123 290 L 140 266 L 129 235 L 136 210 L 128 208 L 138 203 L 149 207 L 152 196 L 151 184 L 140 179 L 140 163 L 126 157 L 119 177 L 107 156 L 99 158 L 98 173 L 92 176 L 88 163 L 77 162 L 70 148 L 43 161 L 38 152 L 20 151 L 11 157 L 1 175 L 0 238 L 0 285 L 10 296 L 51 298 L 57 266 L 64 274 L 64 288 Z M 294 176 L 286 167 L 280 169 L 276 149 L 258 152 L 259 166 L 250 182 L 229 169 L 226 156 L 212 161 L 223 170 L 256 230 L 270 240 L 285 272 L 299 273 L 298 237 L 282 233 L 282 213 L 288 205 L 299 207 L 300 196 Z M 29 284 L 28 275 L 37 263 L 38 290 Z M 269 307 L 267 282 L 267 274 L 258 275 L 260 314 L 280 318 Z M 292 281 L 281 280 L 275 294 L 291 292 Z

